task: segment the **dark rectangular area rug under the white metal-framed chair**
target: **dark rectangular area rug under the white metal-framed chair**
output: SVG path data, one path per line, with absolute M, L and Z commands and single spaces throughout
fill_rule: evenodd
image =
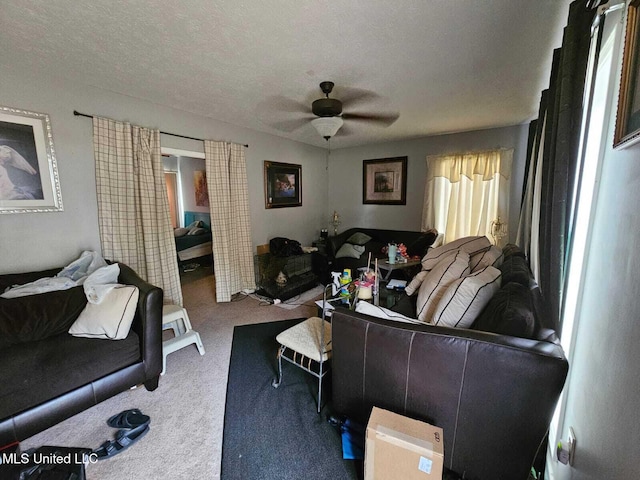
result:
M 342 459 L 340 432 L 316 413 L 317 379 L 283 362 L 277 373 L 278 333 L 300 322 L 235 327 L 222 443 L 223 480 L 356 479 L 356 463 Z M 330 375 L 325 388 L 330 398 Z M 323 390 L 323 396 L 324 390 Z

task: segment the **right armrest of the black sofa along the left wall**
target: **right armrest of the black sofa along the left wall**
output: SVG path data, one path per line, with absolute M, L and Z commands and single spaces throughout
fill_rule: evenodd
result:
M 140 338 L 140 352 L 147 378 L 160 375 L 162 371 L 162 302 L 163 291 L 138 276 L 123 263 L 118 281 L 135 285 L 140 291 L 138 308 L 131 328 Z

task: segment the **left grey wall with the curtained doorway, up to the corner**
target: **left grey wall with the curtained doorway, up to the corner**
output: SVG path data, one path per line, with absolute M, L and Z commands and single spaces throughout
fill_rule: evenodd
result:
M 254 246 L 277 235 L 303 243 L 319 235 L 327 203 L 323 149 L 19 68 L 2 68 L 0 105 L 49 114 L 64 202 L 64 212 L 0 215 L 0 273 L 56 267 L 84 249 L 100 249 L 92 123 L 75 117 L 73 110 L 171 133 L 249 144 L 247 175 Z M 202 142 L 166 135 L 162 144 L 203 151 Z M 302 207 L 265 209 L 264 160 L 302 165 Z

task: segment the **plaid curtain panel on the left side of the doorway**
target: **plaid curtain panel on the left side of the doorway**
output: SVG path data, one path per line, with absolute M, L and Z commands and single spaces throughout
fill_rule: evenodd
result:
M 127 264 L 182 306 L 160 131 L 93 117 L 102 255 Z

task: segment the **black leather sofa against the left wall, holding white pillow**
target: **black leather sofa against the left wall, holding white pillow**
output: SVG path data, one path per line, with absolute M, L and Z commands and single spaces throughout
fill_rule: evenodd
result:
M 78 338 L 64 332 L 0 349 L 0 446 L 24 440 L 133 386 L 158 387 L 163 292 L 119 265 L 119 283 L 135 285 L 140 292 L 126 339 Z M 0 275 L 0 291 L 59 271 Z

